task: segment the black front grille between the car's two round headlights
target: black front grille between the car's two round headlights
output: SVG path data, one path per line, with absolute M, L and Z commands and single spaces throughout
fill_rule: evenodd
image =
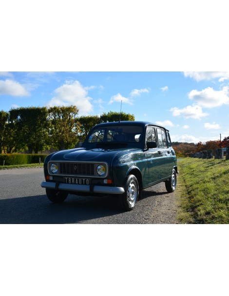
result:
M 94 175 L 94 164 L 93 163 L 59 163 L 60 174 L 76 174 L 76 175 Z

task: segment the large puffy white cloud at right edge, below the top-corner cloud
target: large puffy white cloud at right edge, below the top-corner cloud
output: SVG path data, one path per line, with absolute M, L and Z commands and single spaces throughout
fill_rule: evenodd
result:
M 193 89 L 188 96 L 190 100 L 195 101 L 200 106 L 213 108 L 229 104 L 228 92 L 229 87 L 223 87 L 222 90 L 214 90 L 212 87 L 207 87 L 201 91 Z

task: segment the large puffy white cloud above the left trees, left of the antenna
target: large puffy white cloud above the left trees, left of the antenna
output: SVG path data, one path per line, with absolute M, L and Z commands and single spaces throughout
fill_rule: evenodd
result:
M 56 96 L 47 103 L 48 106 L 70 106 L 76 105 L 79 109 L 79 115 L 88 115 L 93 111 L 90 103 L 91 98 L 87 96 L 88 92 L 77 80 L 67 81 L 61 87 L 55 89 Z

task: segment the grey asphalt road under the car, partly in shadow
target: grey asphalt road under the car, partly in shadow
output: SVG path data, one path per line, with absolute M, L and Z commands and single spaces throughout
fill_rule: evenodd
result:
M 116 196 L 69 194 L 51 203 L 40 187 L 42 168 L 0 170 L 0 224 L 175 224 L 175 192 L 164 183 L 143 191 L 134 210 L 119 209 Z

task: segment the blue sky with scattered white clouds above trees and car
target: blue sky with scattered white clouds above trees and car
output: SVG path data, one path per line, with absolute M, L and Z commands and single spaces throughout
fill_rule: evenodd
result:
M 76 105 L 79 116 L 122 111 L 170 130 L 172 141 L 229 136 L 229 72 L 0 72 L 0 110 Z

